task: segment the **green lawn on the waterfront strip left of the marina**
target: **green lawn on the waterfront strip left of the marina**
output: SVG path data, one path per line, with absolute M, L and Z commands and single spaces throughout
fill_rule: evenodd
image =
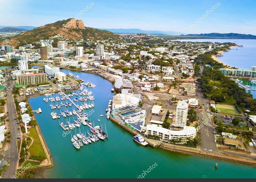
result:
M 30 156 L 41 156 L 44 159 L 46 159 L 46 155 L 44 153 L 44 149 L 42 147 L 40 139 L 38 137 L 37 130 L 35 129 L 35 127 L 32 127 L 28 131 L 30 133 L 27 136 L 32 137 L 34 139 L 33 144 L 29 147 Z

